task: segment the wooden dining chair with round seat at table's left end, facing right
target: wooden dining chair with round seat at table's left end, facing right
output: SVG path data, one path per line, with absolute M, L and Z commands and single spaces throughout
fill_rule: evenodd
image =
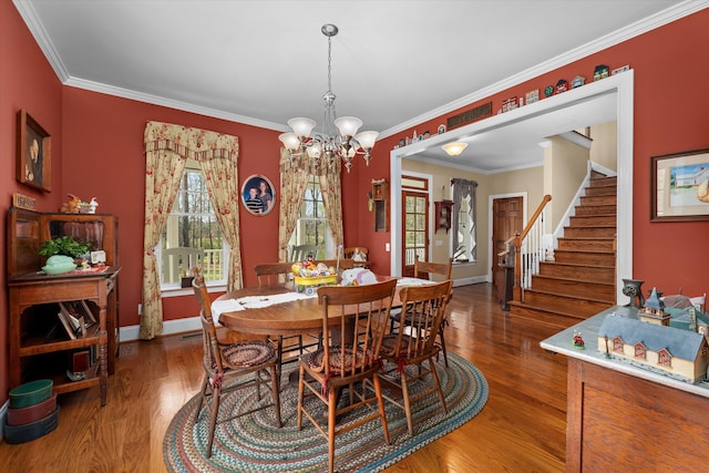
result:
M 280 421 L 280 385 L 277 371 L 278 356 L 274 347 L 261 340 L 243 341 L 239 343 L 223 343 L 217 338 L 214 319 L 212 317 L 212 305 L 207 295 L 207 287 L 199 268 L 194 268 L 194 279 L 192 287 L 199 302 L 199 319 L 202 320 L 202 338 L 204 345 L 204 380 L 199 393 L 199 404 L 195 413 L 195 423 L 202 413 L 202 407 L 209 414 L 209 430 L 207 438 L 207 457 L 212 456 L 212 445 L 214 443 L 214 432 L 219 415 L 219 404 L 222 397 L 245 389 L 256 388 L 258 400 L 260 401 L 260 387 L 268 380 L 264 376 L 269 373 L 271 385 L 271 403 L 259 403 L 257 408 L 232 412 L 227 419 L 219 419 L 219 423 L 228 422 L 235 418 L 250 414 L 253 412 L 274 407 L 276 411 L 276 424 L 282 425 Z M 247 374 L 254 373 L 249 379 Z

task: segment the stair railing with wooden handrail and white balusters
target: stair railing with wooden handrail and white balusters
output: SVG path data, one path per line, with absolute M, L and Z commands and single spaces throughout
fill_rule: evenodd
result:
M 524 289 L 532 286 L 532 276 L 540 273 L 540 263 L 544 260 L 544 214 L 546 204 L 552 200 L 545 195 L 536 212 L 522 233 L 514 237 L 514 287 L 513 297 L 524 301 Z

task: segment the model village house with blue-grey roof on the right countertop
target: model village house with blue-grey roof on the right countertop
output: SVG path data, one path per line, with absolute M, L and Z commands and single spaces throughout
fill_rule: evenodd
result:
M 598 330 L 598 351 L 685 382 L 709 380 L 706 294 L 660 296 L 654 288 L 637 306 L 634 298 L 628 306 L 614 308 Z

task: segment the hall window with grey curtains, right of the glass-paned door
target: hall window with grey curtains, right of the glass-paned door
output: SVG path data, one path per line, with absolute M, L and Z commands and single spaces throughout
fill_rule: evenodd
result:
M 451 225 L 451 257 L 453 261 L 476 260 L 475 188 L 477 183 L 467 179 L 451 179 L 453 192 L 453 222 Z

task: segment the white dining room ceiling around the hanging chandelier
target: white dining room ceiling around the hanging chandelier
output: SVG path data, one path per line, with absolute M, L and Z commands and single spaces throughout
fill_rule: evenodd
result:
M 335 23 L 338 115 L 359 116 L 381 136 L 707 8 L 706 0 L 13 3 L 68 85 L 281 131 L 292 116 L 322 120 L 320 27 Z M 594 113 L 585 110 L 582 125 L 614 120 Z M 547 134 L 500 132 L 490 154 L 475 150 L 497 164 L 479 166 L 520 165 L 502 156 L 528 155 Z

